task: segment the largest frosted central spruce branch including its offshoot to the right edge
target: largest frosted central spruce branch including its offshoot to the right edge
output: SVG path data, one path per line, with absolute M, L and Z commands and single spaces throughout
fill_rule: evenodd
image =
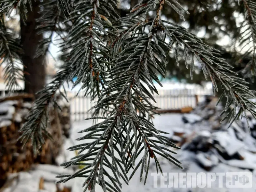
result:
M 60 182 L 66 182 L 74 177 L 85 177 L 86 181 L 83 185 L 85 190 L 89 188 L 95 191 L 95 185 L 98 183 L 103 191 L 120 191 L 121 182 L 118 177 L 122 177 L 127 183 L 140 166 L 140 180 L 144 171 L 146 172 L 144 183 L 146 182 L 151 158 L 155 160 L 157 170 L 159 168 L 162 172 L 156 154 L 181 167 L 180 161 L 169 154 L 176 152 L 163 146 L 177 149 L 179 147 L 171 143 L 168 137 L 160 135 L 165 132 L 157 130 L 148 121 L 147 116 L 150 115 L 150 111 L 144 105 L 147 103 L 153 108 L 150 100 L 155 101 L 152 94 L 157 93 L 153 80 L 161 85 L 155 71 L 162 76 L 165 75 L 166 56 L 170 51 L 174 51 L 176 63 L 179 65 L 181 57 L 179 47 L 184 50 L 186 67 L 190 65 L 191 78 L 197 60 L 201 64 L 205 78 L 210 77 L 213 92 L 221 87 L 227 97 L 225 111 L 230 123 L 242 114 L 247 118 L 247 111 L 255 116 L 253 108 L 256 105 L 250 101 L 254 95 L 252 91 L 246 90 L 246 82 L 231 75 L 236 73 L 231 71 L 232 67 L 228 63 L 219 58 L 217 50 L 203 43 L 185 28 L 162 20 L 161 11 L 164 6 L 171 7 L 181 18 L 184 18 L 181 12 L 182 6 L 175 0 L 144 0 L 132 9 L 132 14 L 122 18 L 122 25 L 116 27 L 119 35 L 111 46 L 112 62 L 115 66 L 110 69 L 111 80 L 103 90 L 100 102 L 95 106 L 96 109 L 108 106 L 112 111 L 107 117 L 89 118 L 102 118 L 103 121 L 82 130 L 81 133 L 85 132 L 86 135 L 78 140 L 94 141 L 71 147 L 70 150 L 80 150 L 80 155 L 63 164 L 65 167 L 80 164 L 93 166 L 87 166 L 73 175 L 58 176 L 66 177 Z M 156 10 L 154 18 L 143 17 L 144 14 L 154 10 Z M 191 62 L 188 63 L 189 60 Z M 238 112 L 236 107 L 239 108 Z M 139 116 L 137 110 L 143 116 Z M 115 156 L 115 153 L 119 157 Z M 102 159 L 104 154 L 108 156 Z M 93 163 L 80 163 L 83 161 L 93 161 Z M 113 175 L 105 172 L 104 167 L 111 169 Z M 126 174 L 131 168 L 133 171 L 127 179 Z M 112 185 L 105 182 L 106 179 L 110 180 Z

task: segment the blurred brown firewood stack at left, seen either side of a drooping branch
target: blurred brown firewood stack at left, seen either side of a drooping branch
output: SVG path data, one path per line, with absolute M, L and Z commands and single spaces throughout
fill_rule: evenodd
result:
M 53 164 L 63 143 L 62 135 L 68 135 L 68 106 L 64 107 L 65 111 L 52 109 L 49 115 L 49 132 L 53 136 L 53 141 L 46 139 L 37 157 L 33 155 L 30 141 L 22 148 L 23 144 L 18 141 L 21 135 L 19 129 L 32 103 L 33 96 L 30 94 L 0 99 L 0 186 L 8 174 L 28 170 L 33 163 Z M 62 117 L 63 114 L 65 117 Z

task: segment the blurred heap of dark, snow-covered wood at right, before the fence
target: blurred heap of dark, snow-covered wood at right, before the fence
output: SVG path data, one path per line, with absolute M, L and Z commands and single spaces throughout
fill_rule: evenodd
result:
M 184 114 L 184 128 L 172 129 L 170 140 L 206 171 L 219 163 L 256 171 L 256 121 L 250 117 L 251 133 L 245 120 L 227 129 L 227 123 L 219 123 L 223 107 L 215 107 L 217 100 L 207 97 L 191 114 Z

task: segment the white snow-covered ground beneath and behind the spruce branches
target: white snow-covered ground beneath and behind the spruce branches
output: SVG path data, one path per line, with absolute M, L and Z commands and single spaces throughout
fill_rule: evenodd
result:
M 204 112 L 203 112 L 204 113 Z M 213 116 L 213 115 L 212 115 Z M 184 120 L 186 118 L 186 121 Z M 187 123 L 185 123 L 187 122 Z M 210 122 L 210 121 L 209 121 Z M 165 177 L 157 176 L 154 178 L 153 174 L 156 174 L 155 161 L 151 161 L 146 185 L 144 186 L 144 178 L 145 173 L 142 177 L 142 182 L 140 182 L 140 168 L 133 175 L 132 179 L 129 181 L 129 185 L 123 182 L 122 192 L 255 192 L 256 191 L 256 152 L 254 152 L 254 147 L 250 139 L 254 139 L 253 137 L 248 137 L 245 140 L 236 140 L 235 136 L 232 136 L 234 132 L 233 129 L 225 130 L 212 130 L 212 125 L 209 126 L 209 122 L 203 120 L 202 117 L 197 116 L 196 114 L 162 114 L 161 116 L 155 116 L 154 124 L 157 129 L 170 132 L 169 137 L 175 139 L 181 139 L 178 137 L 177 133 L 184 133 L 191 135 L 191 133 L 196 132 L 199 137 L 195 137 L 194 140 L 190 139 L 190 141 L 197 141 L 196 138 L 201 138 L 199 143 L 194 145 L 195 143 L 189 143 L 186 141 L 185 144 L 182 145 L 182 150 L 176 150 L 177 154 L 173 155 L 175 158 L 182 162 L 182 166 L 184 170 L 176 167 L 169 161 L 160 156 L 157 156 L 160 165 L 162 167 L 163 172 L 166 174 Z M 208 123 L 208 124 L 207 124 Z M 82 129 L 85 129 L 92 125 L 92 120 L 85 120 L 80 122 L 73 122 L 72 128 L 70 130 L 70 138 L 66 139 L 65 145 L 63 148 L 68 148 L 70 146 L 83 143 L 83 141 L 76 141 L 75 139 L 83 136 L 83 133 L 77 133 Z M 247 135 L 248 136 L 248 135 Z M 185 137 L 184 137 L 185 138 Z M 186 137 L 189 138 L 189 137 Z M 233 154 L 239 152 L 242 159 L 232 158 L 231 160 L 225 160 L 219 154 L 211 153 L 213 148 L 210 148 L 209 151 L 203 152 L 198 145 L 204 145 L 204 138 L 212 139 L 215 141 L 218 140 L 220 149 L 224 149 L 228 152 L 229 156 L 232 157 Z M 206 139 L 206 140 L 207 140 Z M 189 140 L 189 139 L 188 139 Z M 87 141 L 88 142 L 88 141 Z M 191 146 L 190 146 L 191 145 Z M 193 146 L 194 145 L 194 146 Z M 248 148 L 248 146 L 251 146 Z M 223 148 L 222 148 L 223 147 Z M 189 150 L 189 149 L 196 150 Z M 173 150 L 173 148 L 172 148 Z M 210 152 L 210 153 L 209 153 Z M 63 150 L 63 154 L 60 154 L 56 159 L 58 164 L 61 164 L 65 161 L 69 161 L 70 158 L 76 156 L 74 151 Z M 200 165 L 201 164 L 201 165 Z M 250 169 L 250 170 L 249 170 Z M 208 171 L 207 171 L 208 170 Z M 252 171 L 253 170 L 253 171 Z M 131 170 L 130 170 L 131 171 Z M 250 176 L 252 180 L 252 186 L 250 188 L 227 188 L 226 184 L 230 182 L 234 182 L 236 178 L 228 176 L 229 172 L 238 172 L 242 173 L 246 176 Z M 85 178 L 74 178 L 69 180 L 67 183 L 56 186 L 54 183 L 58 181 L 60 178 L 55 178 L 56 175 L 59 174 L 72 174 L 73 170 L 71 167 L 68 169 L 63 169 L 62 167 L 55 165 L 35 165 L 28 172 L 19 172 L 14 173 L 10 176 L 10 178 L 14 178 L 14 180 L 9 178 L 9 182 L 6 182 L 8 185 L 1 192 L 56 192 L 57 187 L 63 188 L 68 187 L 71 188 L 71 192 L 82 192 L 84 191 L 82 184 L 85 181 Z M 169 176 L 169 174 L 173 174 L 173 176 Z M 178 175 L 178 173 L 180 175 Z M 189 177 L 184 174 L 194 174 L 196 176 Z M 211 174 L 211 177 L 205 178 L 206 180 L 198 180 L 198 173 L 202 176 L 205 174 Z M 224 174 L 222 180 L 219 181 L 217 173 L 220 175 Z M 183 175 L 182 175 L 183 174 Z M 216 178 L 214 176 L 216 175 Z M 128 173 L 130 175 L 130 172 Z M 214 176 L 213 176 L 214 175 Z M 241 176 L 241 175 L 240 175 Z M 245 176 L 245 177 L 246 177 Z M 41 183 L 41 178 L 43 178 L 43 189 L 39 190 L 38 187 Z M 182 181 L 181 179 L 185 179 Z M 207 180 L 208 179 L 208 180 Z M 209 180 L 211 179 L 211 180 Z M 244 179 L 244 177 L 241 177 Z M 210 182 L 209 182 L 210 181 Z M 247 182 L 248 180 L 241 180 L 242 183 Z M 239 182 L 239 180 L 236 180 Z M 168 185 L 170 186 L 168 187 Z M 190 186 L 188 186 L 190 184 Z M 240 183 L 241 184 L 241 183 Z M 156 186 L 157 185 L 157 186 Z M 173 187 L 171 187 L 173 185 Z M 204 187 L 205 185 L 205 187 Z M 222 186 L 222 187 L 221 187 Z M 182 188 L 185 187 L 185 188 Z M 240 185 L 240 187 L 243 187 Z M 97 192 L 103 192 L 100 186 L 96 186 Z

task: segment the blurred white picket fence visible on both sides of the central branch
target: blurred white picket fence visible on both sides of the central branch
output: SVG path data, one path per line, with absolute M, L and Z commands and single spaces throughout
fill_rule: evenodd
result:
M 161 88 L 157 86 L 159 95 L 154 94 L 157 103 L 153 103 L 161 109 L 180 109 L 182 107 L 195 107 L 197 102 L 203 100 L 205 95 L 212 94 L 211 86 L 200 86 L 181 83 L 164 84 Z M 90 97 L 84 97 L 83 93 L 76 97 L 76 92 L 68 92 L 71 120 L 80 121 L 91 117 L 89 109 L 96 101 L 90 101 Z

